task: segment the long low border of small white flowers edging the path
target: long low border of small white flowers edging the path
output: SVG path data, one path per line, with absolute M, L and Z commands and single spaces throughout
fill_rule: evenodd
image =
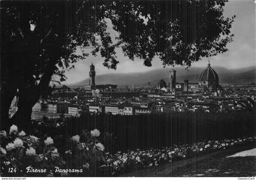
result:
M 106 163 L 101 166 L 108 176 L 117 176 L 129 171 L 139 170 L 146 167 L 166 164 L 178 161 L 197 154 L 209 153 L 210 151 L 225 150 L 247 142 L 255 141 L 256 137 L 243 137 L 237 139 L 208 140 L 194 144 L 174 145 L 173 147 L 163 147 L 160 149 L 151 148 L 149 150 L 136 150 L 116 154 L 105 153 Z

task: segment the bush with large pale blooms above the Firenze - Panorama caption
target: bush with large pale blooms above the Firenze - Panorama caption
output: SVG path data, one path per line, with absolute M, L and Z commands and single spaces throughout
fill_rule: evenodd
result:
M 0 132 L 1 176 L 93 176 L 105 160 L 100 133 L 93 131 L 66 139 L 60 153 L 54 144 L 59 139 L 19 133 L 12 125 L 9 134 Z

